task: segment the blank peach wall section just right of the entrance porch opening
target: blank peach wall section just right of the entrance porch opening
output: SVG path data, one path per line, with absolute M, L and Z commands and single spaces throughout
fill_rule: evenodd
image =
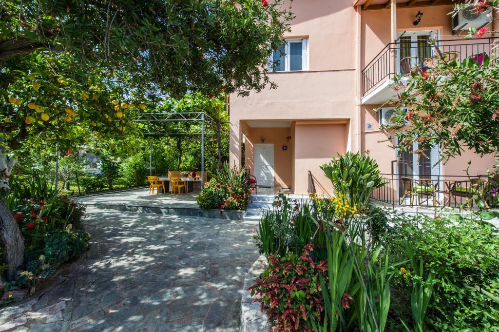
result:
M 296 124 L 295 127 L 295 178 L 294 192 L 308 190 L 308 171 L 312 172 L 318 194 L 332 194 L 331 181 L 319 168 L 329 163 L 338 153 L 344 154 L 347 146 L 347 124 Z

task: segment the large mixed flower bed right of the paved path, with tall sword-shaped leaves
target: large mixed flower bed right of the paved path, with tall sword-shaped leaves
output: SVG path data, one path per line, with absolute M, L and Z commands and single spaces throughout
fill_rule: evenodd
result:
M 499 331 L 498 212 L 397 214 L 369 205 L 368 156 L 323 169 L 335 197 L 277 195 L 254 237 L 269 265 L 248 289 L 272 331 Z

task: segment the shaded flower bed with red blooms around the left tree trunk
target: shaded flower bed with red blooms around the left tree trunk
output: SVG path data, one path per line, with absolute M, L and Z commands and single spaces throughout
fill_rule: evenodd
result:
M 81 256 L 90 239 L 81 229 L 83 206 L 60 196 L 37 176 L 25 186 L 15 181 L 9 184 L 11 190 L 2 191 L 0 199 L 12 212 L 24 239 L 24 263 L 15 279 L 4 283 L 7 295 L 3 304 L 16 300 L 13 290 L 32 288 L 50 278 L 60 264 Z M 0 261 L 0 273 L 6 269 L 6 263 Z

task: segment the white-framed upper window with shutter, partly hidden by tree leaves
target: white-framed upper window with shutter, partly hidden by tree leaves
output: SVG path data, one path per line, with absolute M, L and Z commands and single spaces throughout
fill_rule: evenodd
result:
M 269 71 L 308 70 L 308 38 L 287 39 L 272 51 L 268 59 Z

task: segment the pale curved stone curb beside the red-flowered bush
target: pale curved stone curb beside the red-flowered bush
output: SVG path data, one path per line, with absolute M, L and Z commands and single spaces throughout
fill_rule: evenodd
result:
M 260 303 L 253 303 L 251 292 L 248 287 L 254 285 L 256 279 L 267 267 L 264 255 L 258 257 L 248 271 L 243 287 L 243 298 L 241 299 L 241 326 L 240 332 L 267 332 L 272 327 L 267 315 L 260 311 Z

